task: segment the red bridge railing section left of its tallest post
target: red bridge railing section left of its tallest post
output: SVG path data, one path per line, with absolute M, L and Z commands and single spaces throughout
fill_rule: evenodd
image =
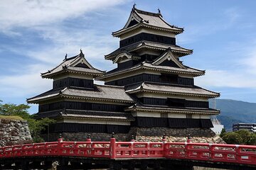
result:
M 4 157 L 72 156 L 110 157 L 110 142 L 44 142 L 0 147 L 0 159 Z

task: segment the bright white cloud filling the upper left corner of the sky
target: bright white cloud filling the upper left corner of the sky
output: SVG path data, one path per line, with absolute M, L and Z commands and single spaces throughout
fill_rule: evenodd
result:
M 85 12 L 108 8 L 123 2 L 120 0 L 0 1 L 0 30 L 7 33 L 7 30 L 17 26 L 29 28 L 46 23 L 56 24 L 66 18 L 78 17 Z

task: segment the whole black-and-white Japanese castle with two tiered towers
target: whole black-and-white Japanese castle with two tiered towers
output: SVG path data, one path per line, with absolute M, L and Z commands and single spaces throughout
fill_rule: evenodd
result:
M 139 137 L 213 137 L 208 99 L 220 94 L 194 84 L 205 71 L 184 65 L 180 57 L 193 50 L 176 45 L 183 33 L 164 21 L 161 12 L 132 8 L 124 28 L 112 33 L 119 48 L 105 60 L 117 68 L 102 72 L 80 51 L 41 77 L 53 79 L 53 89 L 28 98 L 39 104 L 38 118 L 53 118 L 50 140 L 61 133 L 65 140 L 117 140 Z M 94 80 L 105 85 L 94 84 Z

